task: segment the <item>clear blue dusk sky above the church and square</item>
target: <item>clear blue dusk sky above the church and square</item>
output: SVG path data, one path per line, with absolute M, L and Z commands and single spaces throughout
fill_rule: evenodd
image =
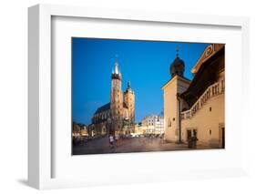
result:
M 209 44 L 100 38 L 72 38 L 73 121 L 90 124 L 97 107 L 110 101 L 111 72 L 118 56 L 122 89 L 128 80 L 135 91 L 135 121 L 163 111 L 161 87 L 170 79 L 169 66 L 176 57 L 185 63 L 184 76 Z

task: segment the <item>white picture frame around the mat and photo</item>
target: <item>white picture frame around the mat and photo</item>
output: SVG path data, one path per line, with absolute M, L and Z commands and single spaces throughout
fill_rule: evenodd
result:
M 98 18 L 123 21 L 139 21 L 145 23 L 183 24 L 192 26 L 233 26 L 241 28 L 241 67 L 242 86 L 249 81 L 246 67 L 249 67 L 249 19 L 246 17 L 219 16 L 219 15 L 185 15 L 171 13 L 146 13 L 129 10 L 111 10 L 102 8 L 87 8 L 67 5 L 35 5 L 28 9 L 28 51 L 29 51 L 29 130 L 28 130 L 28 183 L 36 189 L 56 189 L 69 187 L 83 187 L 90 185 L 126 184 L 129 182 L 162 181 L 171 179 L 194 179 L 212 177 L 230 177 L 247 174 L 246 146 L 242 147 L 242 164 L 237 168 L 201 168 L 200 170 L 182 170 L 165 173 L 153 168 L 153 173 L 161 179 L 147 179 L 148 174 L 142 173 L 138 177 L 143 180 L 126 177 L 124 179 L 106 179 L 98 176 L 95 179 L 65 179 L 54 178 L 52 145 L 52 17 L 79 17 Z M 242 97 L 247 98 L 249 88 L 243 87 Z M 244 100 L 244 104 L 249 101 Z M 241 134 L 243 145 L 247 136 L 245 130 L 247 109 L 241 109 Z M 153 153 L 154 154 L 154 153 Z M 120 156 L 126 157 L 129 156 Z M 90 175 L 89 175 L 90 176 Z M 97 181 L 96 181 L 97 179 Z

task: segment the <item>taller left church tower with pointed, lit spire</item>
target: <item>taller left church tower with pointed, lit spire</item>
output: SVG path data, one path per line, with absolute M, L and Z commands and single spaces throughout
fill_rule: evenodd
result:
M 113 135 L 122 128 L 123 116 L 123 92 L 122 92 L 122 75 L 116 58 L 114 69 L 111 74 L 111 92 L 110 92 L 110 109 L 111 109 L 111 131 Z

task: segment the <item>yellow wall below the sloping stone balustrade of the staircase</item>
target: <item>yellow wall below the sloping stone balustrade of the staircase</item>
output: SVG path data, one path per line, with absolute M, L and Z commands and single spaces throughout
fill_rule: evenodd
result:
M 181 120 L 183 142 L 187 141 L 187 130 L 196 129 L 198 144 L 207 145 L 210 148 L 220 148 L 220 128 L 224 128 L 225 120 L 224 97 L 224 94 L 211 97 L 193 117 Z

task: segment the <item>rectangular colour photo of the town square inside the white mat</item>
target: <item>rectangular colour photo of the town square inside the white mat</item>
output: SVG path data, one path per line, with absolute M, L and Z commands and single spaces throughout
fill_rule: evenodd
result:
M 71 37 L 72 155 L 225 148 L 225 44 Z

